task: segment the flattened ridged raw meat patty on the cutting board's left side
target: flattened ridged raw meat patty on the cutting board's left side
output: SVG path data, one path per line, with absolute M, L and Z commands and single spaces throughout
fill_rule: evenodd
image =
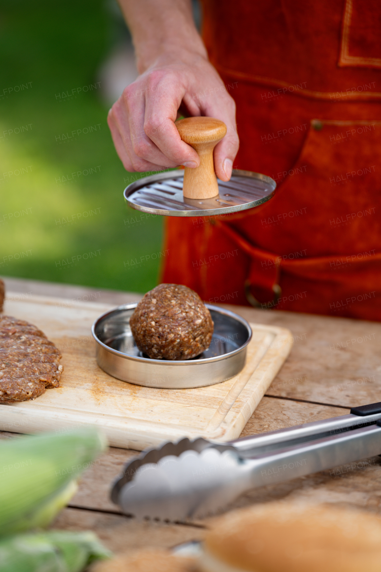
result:
M 0 316 L 0 403 L 34 399 L 58 387 L 61 352 L 33 324 Z

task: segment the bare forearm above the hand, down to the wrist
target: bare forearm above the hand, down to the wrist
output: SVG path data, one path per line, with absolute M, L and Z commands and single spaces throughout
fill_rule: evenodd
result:
M 163 54 L 207 58 L 190 0 L 118 0 L 130 27 L 139 73 Z

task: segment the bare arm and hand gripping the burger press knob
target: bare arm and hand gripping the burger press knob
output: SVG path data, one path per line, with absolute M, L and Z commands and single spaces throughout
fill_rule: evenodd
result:
M 190 116 L 216 117 L 226 123 L 227 135 L 214 149 L 214 162 L 217 175 L 227 181 L 239 145 L 235 104 L 208 62 L 190 0 L 119 3 L 141 74 L 125 88 L 108 117 L 123 165 L 129 171 L 198 166 L 198 154 L 181 141 L 174 125 L 181 107 Z

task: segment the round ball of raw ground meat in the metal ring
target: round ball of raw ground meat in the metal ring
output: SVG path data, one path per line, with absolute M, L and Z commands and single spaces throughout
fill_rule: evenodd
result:
M 185 360 L 209 347 L 211 315 L 199 295 L 179 284 L 147 292 L 130 318 L 138 348 L 149 358 Z

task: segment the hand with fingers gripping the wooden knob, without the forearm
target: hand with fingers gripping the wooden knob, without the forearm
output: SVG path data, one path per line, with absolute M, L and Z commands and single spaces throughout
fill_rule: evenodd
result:
M 221 91 L 222 80 L 210 63 L 203 62 L 202 66 L 205 69 L 164 66 L 146 72 L 125 88 L 107 121 L 115 148 L 127 170 L 142 172 L 199 165 L 198 154 L 181 140 L 174 123 L 178 109 L 184 105 L 191 116 L 215 117 L 225 122 L 227 134 L 214 149 L 214 165 L 220 179 L 230 179 L 239 147 L 235 104 Z M 195 93 L 202 94 L 203 86 L 209 81 L 216 86 L 208 90 L 214 96 L 199 100 Z

